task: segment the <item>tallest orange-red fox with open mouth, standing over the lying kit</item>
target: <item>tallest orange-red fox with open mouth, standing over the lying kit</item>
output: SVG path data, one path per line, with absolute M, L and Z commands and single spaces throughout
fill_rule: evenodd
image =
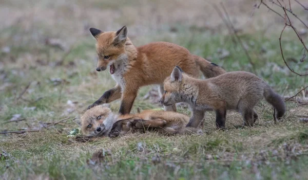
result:
M 196 78 L 199 76 L 199 69 L 206 78 L 225 73 L 223 68 L 192 55 L 186 48 L 176 44 L 155 42 L 135 47 L 127 38 L 126 26 L 117 32 L 103 32 L 95 28 L 90 28 L 90 32 L 97 40 L 97 71 L 105 70 L 109 66 L 110 74 L 117 85 L 89 105 L 88 109 L 122 97 L 119 113 L 129 114 L 139 88 L 159 84 L 162 94 L 163 81 L 176 65 Z M 165 107 L 165 110 L 176 111 L 176 106 L 173 104 Z

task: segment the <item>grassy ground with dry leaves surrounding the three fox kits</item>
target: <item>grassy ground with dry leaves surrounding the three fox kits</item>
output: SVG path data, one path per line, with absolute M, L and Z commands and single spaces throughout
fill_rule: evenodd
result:
M 306 77 L 284 65 L 278 37 L 283 21 L 253 1 L 228 1 L 225 6 L 254 65 L 234 43 L 211 6 L 215 1 L 2 1 L 0 3 L 0 131 L 41 130 L 0 135 L 2 179 L 304 179 L 308 177 L 308 127 L 299 118 L 307 105 L 287 102 L 283 122 L 273 123 L 265 101 L 256 107 L 253 128 L 228 112 L 226 131 L 215 130 L 215 115 L 207 113 L 204 135 L 131 134 L 118 139 L 77 142 L 68 133 L 73 118 L 115 83 L 108 71 L 95 71 L 95 40 L 89 27 L 117 30 L 128 26 L 135 45 L 169 41 L 210 59 L 227 71 L 246 70 L 262 77 L 281 95 L 294 95 Z M 307 19 L 296 4 L 293 11 Z M 252 15 L 252 12 L 254 14 Z M 281 13 L 281 11 L 279 11 Z M 294 25 L 302 29 L 294 19 Z M 282 40 L 287 62 L 300 62 L 301 44 L 287 29 Z M 308 44 L 307 37 L 303 36 Z M 221 58 L 223 52 L 228 56 Z M 59 63 L 62 62 L 62 63 Z M 132 113 L 160 107 L 140 89 Z M 302 96 L 302 94 L 300 95 Z M 31 108 L 32 107 L 32 108 Z M 119 101 L 111 103 L 119 110 Z M 184 106 L 179 112 L 189 114 Z M 15 119 L 25 119 L 11 122 Z M 56 125 L 49 123 L 67 120 Z

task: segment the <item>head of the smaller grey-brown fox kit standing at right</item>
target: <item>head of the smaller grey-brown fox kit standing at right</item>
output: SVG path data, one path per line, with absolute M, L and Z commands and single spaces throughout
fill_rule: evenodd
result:
M 176 66 L 171 73 L 171 76 L 167 77 L 164 81 L 164 94 L 159 102 L 165 106 L 172 105 L 178 102 L 182 102 L 181 91 L 183 88 L 182 69 Z

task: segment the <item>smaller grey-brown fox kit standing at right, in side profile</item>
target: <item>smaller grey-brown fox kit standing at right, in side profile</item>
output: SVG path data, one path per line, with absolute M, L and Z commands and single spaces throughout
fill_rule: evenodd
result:
M 263 98 L 276 110 L 274 118 L 285 113 L 285 104 L 269 85 L 252 73 L 233 71 L 199 80 L 187 76 L 180 67 L 175 67 L 164 82 L 164 105 L 187 102 L 195 109 L 216 112 L 216 125 L 225 127 L 226 110 L 237 110 L 242 114 L 244 125 L 253 125 L 258 118 L 254 106 Z M 275 112 L 275 111 L 274 111 Z M 188 127 L 198 127 L 199 119 L 190 119 Z

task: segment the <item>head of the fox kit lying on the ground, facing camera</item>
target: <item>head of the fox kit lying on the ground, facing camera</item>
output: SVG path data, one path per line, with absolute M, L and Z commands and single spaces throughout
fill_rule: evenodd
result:
M 99 137 L 108 135 L 115 118 L 109 107 L 98 105 L 87 110 L 81 120 L 75 122 L 85 136 Z

